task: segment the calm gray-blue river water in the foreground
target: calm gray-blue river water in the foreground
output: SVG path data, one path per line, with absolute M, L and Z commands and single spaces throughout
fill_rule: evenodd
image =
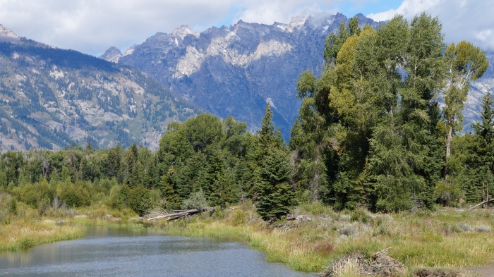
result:
M 90 227 L 84 238 L 0 253 L 0 276 L 314 276 L 242 242 Z

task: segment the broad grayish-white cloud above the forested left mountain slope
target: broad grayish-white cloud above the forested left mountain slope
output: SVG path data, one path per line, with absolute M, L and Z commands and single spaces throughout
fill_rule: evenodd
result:
M 100 54 L 186 24 L 215 25 L 231 0 L 0 0 L 0 23 L 56 47 Z

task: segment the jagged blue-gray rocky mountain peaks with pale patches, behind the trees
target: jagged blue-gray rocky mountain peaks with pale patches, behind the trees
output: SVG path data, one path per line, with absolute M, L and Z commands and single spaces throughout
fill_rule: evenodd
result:
M 372 19 L 357 16 L 361 25 L 378 27 Z M 149 73 L 211 113 L 246 121 L 249 130 L 260 125 L 269 98 L 275 124 L 287 137 L 300 106 L 295 97 L 299 74 L 320 73 L 325 37 L 348 20 L 342 13 L 313 13 L 294 17 L 289 24 L 239 20 L 200 34 L 183 25 L 134 45 L 118 63 Z

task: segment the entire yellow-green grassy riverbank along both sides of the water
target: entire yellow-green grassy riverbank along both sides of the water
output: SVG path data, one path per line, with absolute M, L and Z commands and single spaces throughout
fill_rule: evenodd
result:
M 265 252 L 268 261 L 308 272 L 321 272 L 332 259 L 345 254 L 360 252 L 370 257 L 387 248 L 390 257 L 406 266 L 405 275 L 418 268 L 469 268 L 492 265 L 494 261 L 491 209 L 372 214 L 363 209 L 336 212 L 315 202 L 301 204 L 293 218 L 268 224 L 260 220 L 251 204 L 171 222 L 146 221 L 133 218 L 127 211 L 109 211 L 105 207 L 78 209 L 70 215 L 24 219 L 3 226 L 0 249 L 16 250 L 80 238 L 83 234 L 77 226 L 98 225 L 242 240 Z M 68 224 L 57 226 L 54 220 Z

